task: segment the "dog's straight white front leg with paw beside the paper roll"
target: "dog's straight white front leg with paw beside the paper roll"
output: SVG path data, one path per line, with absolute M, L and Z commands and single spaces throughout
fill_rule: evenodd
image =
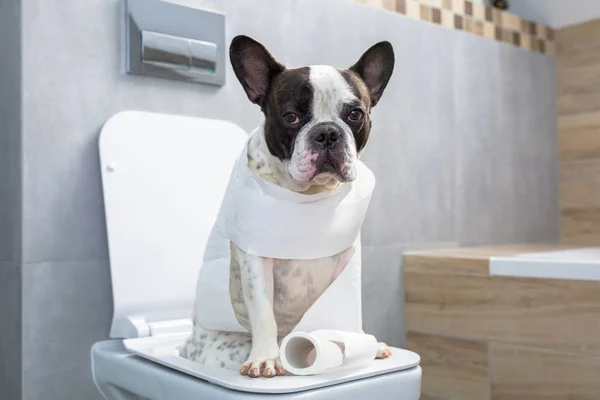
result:
M 235 247 L 235 246 L 233 246 Z M 273 314 L 273 260 L 250 256 L 234 249 L 240 262 L 240 278 L 252 332 L 250 356 L 240 373 L 252 378 L 284 375 L 279 361 L 277 323 Z

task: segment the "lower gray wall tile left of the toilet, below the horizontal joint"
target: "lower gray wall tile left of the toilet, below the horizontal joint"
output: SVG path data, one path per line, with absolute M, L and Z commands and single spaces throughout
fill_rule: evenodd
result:
M 23 266 L 23 397 L 101 399 L 90 348 L 112 317 L 106 261 Z

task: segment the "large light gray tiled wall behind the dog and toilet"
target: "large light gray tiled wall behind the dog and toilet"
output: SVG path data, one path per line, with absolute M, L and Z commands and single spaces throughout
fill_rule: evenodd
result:
M 404 249 L 557 238 L 552 58 L 345 0 L 180 2 L 224 11 L 228 38 L 254 36 L 291 66 L 348 66 L 393 42 L 396 72 L 364 156 L 378 179 L 364 228 L 367 331 L 404 340 Z M 117 0 L 22 6 L 24 397 L 95 399 L 88 350 L 112 311 L 100 127 L 124 109 L 248 130 L 260 114 L 231 70 L 219 89 L 123 75 Z M 0 184 L 13 182 L 3 174 Z

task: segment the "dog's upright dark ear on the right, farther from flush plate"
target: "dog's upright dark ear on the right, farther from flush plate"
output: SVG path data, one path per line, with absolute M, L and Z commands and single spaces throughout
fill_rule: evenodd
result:
M 367 85 L 371 95 L 371 106 L 374 107 L 394 71 L 394 48 L 390 42 L 379 42 L 367 50 L 362 57 L 350 67 L 350 71 L 358 74 Z

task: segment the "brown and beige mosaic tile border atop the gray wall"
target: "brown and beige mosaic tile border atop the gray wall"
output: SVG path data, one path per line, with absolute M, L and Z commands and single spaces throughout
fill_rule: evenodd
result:
M 542 54 L 555 54 L 554 30 L 507 11 L 468 0 L 354 0 L 411 19 L 465 31 Z

